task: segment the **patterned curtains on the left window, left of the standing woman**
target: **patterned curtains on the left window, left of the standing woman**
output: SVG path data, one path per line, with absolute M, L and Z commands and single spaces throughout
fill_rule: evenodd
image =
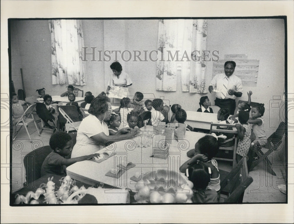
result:
M 86 85 L 81 20 L 49 20 L 52 84 Z

